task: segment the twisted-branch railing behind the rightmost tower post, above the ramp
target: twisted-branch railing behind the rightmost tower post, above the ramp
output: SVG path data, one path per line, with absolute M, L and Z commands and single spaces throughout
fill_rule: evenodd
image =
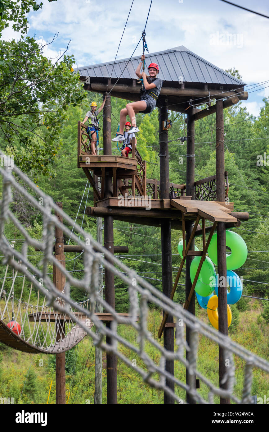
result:
M 224 173 L 225 178 L 225 198 L 228 198 L 229 182 L 228 172 Z M 203 178 L 194 182 L 194 199 L 199 201 L 216 201 L 216 175 L 211 177 Z

